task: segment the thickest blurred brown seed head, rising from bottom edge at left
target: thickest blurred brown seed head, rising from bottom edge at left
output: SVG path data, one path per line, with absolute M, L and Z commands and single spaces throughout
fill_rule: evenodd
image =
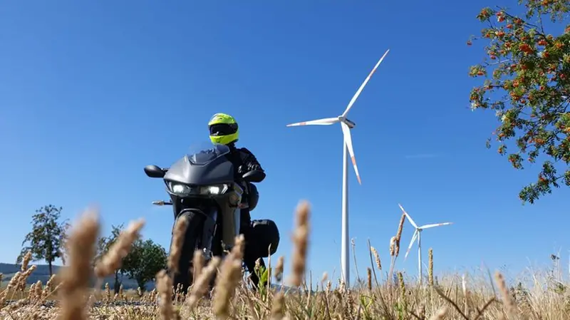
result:
M 61 320 L 87 319 L 85 294 L 93 270 L 91 261 L 95 256 L 99 227 L 97 213 L 88 210 L 71 232 L 68 240 L 69 264 L 61 273 Z

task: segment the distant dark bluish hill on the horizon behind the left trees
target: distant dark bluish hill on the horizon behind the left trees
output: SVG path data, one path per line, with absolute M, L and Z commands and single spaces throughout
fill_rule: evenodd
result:
M 41 283 L 46 284 L 49 280 L 49 266 L 47 264 L 36 264 L 37 268 L 34 270 L 30 277 L 28 277 L 26 284 L 35 284 L 36 282 L 41 281 Z M 53 273 L 57 273 L 61 266 L 52 266 Z M 8 284 L 10 279 L 14 277 L 16 272 L 20 271 L 19 264 L 7 264 L 7 263 L 0 263 L 0 273 L 3 274 L 2 285 Z M 121 277 L 119 276 L 120 281 L 123 283 L 124 289 L 137 289 L 138 284 L 134 279 L 130 279 L 129 277 Z M 103 286 L 105 283 L 108 283 L 111 289 L 113 289 L 113 283 L 115 282 L 115 277 L 106 277 L 103 279 Z M 95 279 L 93 279 L 93 285 L 95 284 Z M 152 290 L 155 288 L 154 282 L 147 283 L 147 290 Z

